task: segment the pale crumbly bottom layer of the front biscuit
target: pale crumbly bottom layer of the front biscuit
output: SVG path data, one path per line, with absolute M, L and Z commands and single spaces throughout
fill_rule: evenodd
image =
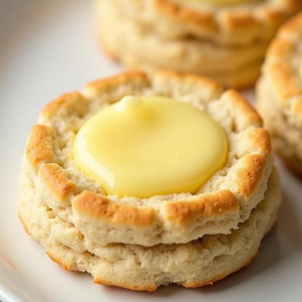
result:
M 281 202 L 278 175 L 272 172 L 265 198 L 246 222 L 230 235 L 207 235 L 186 244 L 143 247 L 130 244 L 99 246 L 34 197 L 34 184 L 20 176 L 20 219 L 47 255 L 64 269 L 87 271 L 94 282 L 137 291 L 160 285 L 184 287 L 212 284 L 248 265 L 277 218 Z

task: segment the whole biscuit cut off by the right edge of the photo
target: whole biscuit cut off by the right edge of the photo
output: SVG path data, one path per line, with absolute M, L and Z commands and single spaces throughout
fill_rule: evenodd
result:
M 273 148 L 302 173 L 302 14 L 286 22 L 272 41 L 257 84 L 257 107 Z

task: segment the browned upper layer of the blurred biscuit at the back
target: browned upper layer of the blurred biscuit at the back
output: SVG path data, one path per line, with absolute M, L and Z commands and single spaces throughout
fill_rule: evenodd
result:
M 198 37 L 223 45 L 268 41 L 281 22 L 302 7 L 300 0 L 250 1 L 230 6 L 183 0 L 111 2 L 128 18 L 167 40 Z

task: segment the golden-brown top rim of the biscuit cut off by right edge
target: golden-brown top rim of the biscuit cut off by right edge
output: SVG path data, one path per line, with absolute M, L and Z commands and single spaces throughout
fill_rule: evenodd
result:
M 262 72 L 281 110 L 288 110 L 298 119 L 302 114 L 302 87 L 299 79 L 301 38 L 302 13 L 299 13 L 279 29 L 268 48 Z

